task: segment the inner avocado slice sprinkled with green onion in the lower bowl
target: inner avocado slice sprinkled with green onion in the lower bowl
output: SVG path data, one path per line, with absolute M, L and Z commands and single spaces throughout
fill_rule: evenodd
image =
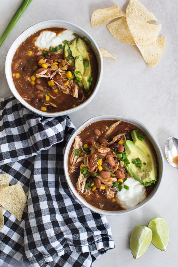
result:
M 131 177 L 134 177 L 144 186 L 155 183 L 156 177 L 152 176 L 152 173 L 150 173 L 150 171 L 147 171 L 147 157 L 144 154 L 143 150 L 130 140 L 127 140 L 125 142 L 124 147 L 127 159 L 130 161 L 129 164 L 125 163 L 125 168 L 131 175 Z M 132 163 L 132 161 L 136 160 L 136 158 L 142 160 L 141 168 L 137 168 L 136 164 Z M 146 165 L 144 165 L 143 163 L 146 163 Z

